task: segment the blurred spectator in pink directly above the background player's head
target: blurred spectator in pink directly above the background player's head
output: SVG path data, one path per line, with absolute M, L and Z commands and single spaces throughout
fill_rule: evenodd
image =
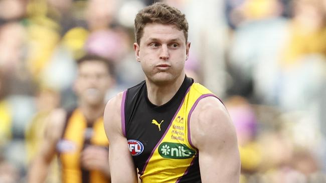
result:
M 119 62 L 130 45 L 124 31 L 116 27 L 116 7 L 115 0 L 88 1 L 85 18 L 90 35 L 85 42 L 85 51 Z

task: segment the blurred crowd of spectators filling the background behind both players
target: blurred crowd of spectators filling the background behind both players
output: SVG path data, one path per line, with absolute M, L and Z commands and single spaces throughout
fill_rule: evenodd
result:
M 153 1 L 0 0 L 1 183 L 26 182 L 48 114 L 76 106 L 76 59 L 112 61 L 107 99 L 143 80 L 133 19 Z M 187 74 L 233 119 L 241 183 L 326 182 L 326 0 L 162 1 L 188 18 Z

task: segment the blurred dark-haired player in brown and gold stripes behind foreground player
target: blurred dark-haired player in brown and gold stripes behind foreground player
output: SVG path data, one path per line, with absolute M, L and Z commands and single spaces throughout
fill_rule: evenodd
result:
M 112 86 L 110 61 L 95 55 L 79 60 L 74 89 L 78 107 L 54 110 L 48 118 L 45 136 L 32 161 L 29 182 L 44 182 L 56 153 L 62 182 L 110 182 L 109 143 L 103 128 L 104 98 Z

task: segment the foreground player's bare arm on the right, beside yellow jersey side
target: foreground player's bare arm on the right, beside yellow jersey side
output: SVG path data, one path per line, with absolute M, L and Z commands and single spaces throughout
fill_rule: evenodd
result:
M 203 182 L 239 182 L 240 157 L 234 126 L 216 98 L 202 99 L 191 116 Z

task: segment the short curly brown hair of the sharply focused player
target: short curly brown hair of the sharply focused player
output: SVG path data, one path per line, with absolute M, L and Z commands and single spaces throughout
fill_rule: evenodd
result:
M 186 42 L 188 40 L 188 21 L 186 15 L 176 7 L 156 2 L 141 9 L 135 17 L 135 37 L 138 44 L 140 43 L 146 23 L 174 24 L 179 30 L 183 30 Z

